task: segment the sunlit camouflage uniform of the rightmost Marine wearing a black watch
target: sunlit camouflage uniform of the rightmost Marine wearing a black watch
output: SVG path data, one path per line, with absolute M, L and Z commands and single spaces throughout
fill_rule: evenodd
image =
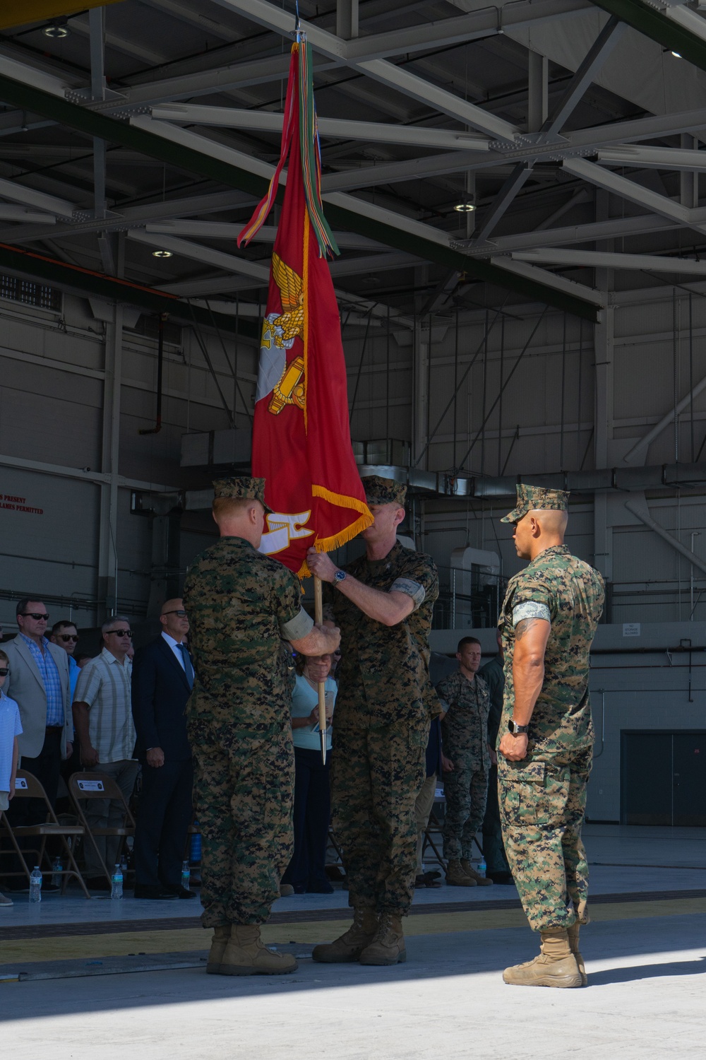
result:
M 499 755 L 497 767 L 505 852 L 535 931 L 587 921 L 581 827 L 594 742 L 589 652 L 603 598 L 600 575 L 558 545 L 510 580 L 499 623 L 505 652 L 501 738 L 513 709 L 514 626 L 526 618 L 551 623 L 527 756 L 510 762 Z

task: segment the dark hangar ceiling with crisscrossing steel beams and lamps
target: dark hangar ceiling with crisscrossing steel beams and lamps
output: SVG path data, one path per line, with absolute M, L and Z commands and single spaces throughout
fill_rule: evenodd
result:
M 298 10 L 344 305 L 410 316 L 531 300 L 595 319 L 612 297 L 599 269 L 616 290 L 706 278 L 699 6 Z M 0 267 L 40 275 L 7 249 L 20 248 L 257 315 L 274 229 L 242 251 L 235 235 L 278 156 L 293 30 L 289 0 L 117 0 L 6 26 Z

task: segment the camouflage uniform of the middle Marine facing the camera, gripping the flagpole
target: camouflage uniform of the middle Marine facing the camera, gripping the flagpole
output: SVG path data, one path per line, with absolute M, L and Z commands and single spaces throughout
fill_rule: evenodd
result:
M 348 903 L 406 914 L 417 865 L 415 800 L 424 781 L 430 718 L 438 701 L 429 679 L 429 631 L 438 596 L 433 560 L 395 544 L 380 561 L 345 569 L 382 593 L 406 593 L 415 610 L 383 625 L 331 588 L 341 628 L 331 802 L 343 848 Z

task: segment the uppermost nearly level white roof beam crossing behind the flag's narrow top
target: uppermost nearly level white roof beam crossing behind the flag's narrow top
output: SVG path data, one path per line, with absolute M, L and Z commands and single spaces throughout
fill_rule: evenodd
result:
M 284 116 L 267 110 L 238 110 L 231 107 L 203 107 L 188 103 L 163 103 L 151 108 L 158 121 L 180 125 L 218 125 L 224 128 L 258 129 L 282 132 Z M 340 118 L 319 118 L 319 132 L 337 140 L 366 140 L 379 143 L 411 144 L 451 151 L 488 151 L 490 143 L 458 129 L 432 129 L 417 125 L 391 125 L 385 122 L 355 122 Z

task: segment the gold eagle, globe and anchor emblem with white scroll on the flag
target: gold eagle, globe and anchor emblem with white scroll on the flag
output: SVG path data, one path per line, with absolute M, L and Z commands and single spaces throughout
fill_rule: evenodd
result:
M 304 290 L 302 277 L 276 253 L 272 255 L 272 275 L 279 288 L 282 313 L 268 313 L 263 321 L 255 401 L 272 392 L 268 412 L 278 416 L 287 405 L 295 405 L 304 411 L 304 357 L 296 356 L 287 364 L 287 351 L 304 331 Z M 311 511 L 271 512 L 267 516 L 268 532 L 263 534 L 259 551 L 273 555 L 289 548 L 290 541 L 311 536 L 313 530 L 306 528 L 310 515 Z

